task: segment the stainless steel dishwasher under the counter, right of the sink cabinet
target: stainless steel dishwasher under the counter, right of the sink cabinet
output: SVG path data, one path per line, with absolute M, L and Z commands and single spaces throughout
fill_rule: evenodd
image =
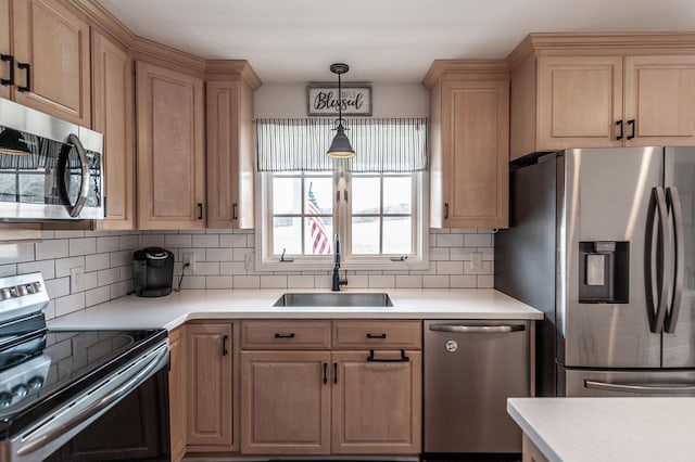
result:
M 530 396 L 530 321 L 425 321 L 425 453 L 518 453 L 507 397 Z

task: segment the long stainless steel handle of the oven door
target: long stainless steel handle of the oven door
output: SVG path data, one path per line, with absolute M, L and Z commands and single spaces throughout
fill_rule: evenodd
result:
M 29 435 L 25 440 L 21 441 L 21 446 L 15 451 L 16 455 L 20 458 L 28 457 L 39 449 L 46 447 L 51 441 L 56 440 L 61 436 L 67 434 L 74 428 L 78 427 L 83 423 L 89 423 L 89 420 L 96 420 L 104 412 L 106 412 L 112 406 L 117 403 L 122 398 L 124 398 L 127 394 L 132 392 L 135 388 L 140 386 L 142 382 L 144 382 L 149 375 L 154 373 L 157 369 L 160 369 L 163 363 L 168 359 L 168 343 L 157 347 L 157 351 L 154 351 L 154 357 L 144 365 L 141 365 L 138 370 L 135 371 L 134 374 L 123 377 L 119 380 L 119 385 L 110 392 L 104 397 L 94 396 L 91 399 L 94 399 L 94 402 L 87 406 L 83 409 L 77 409 L 74 415 L 71 415 L 73 411 L 71 408 L 79 408 L 79 406 L 74 406 L 74 402 L 71 402 L 65 408 L 56 411 L 54 414 L 50 415 L 48 419 L 42 420 L 36 427 L 27 432 L 25 435 Z M 126 370 L 127 371 L 127 370 Z M 122 373 L 124 373 L 123 371 Z M 106 384 L 100 384 L 97 388 L 105 386 Z M 88 392 L 86 395 L 98 395 L 96 389 Z M 78 398 L 77 401 L 83 399 L 83 397 Z M 86 398 L 88 399 L 88 398 Z M 64 412 L 63 415 L 60 415 Z M 58 415 L 54 418 L 54 415 Z M 64 419 L 67 419 L 66 422 L 60 422 Z M 74 435 L 71 435 L 72 438 Z M 24 439 L 24 438 L 23 438 Z M 61 442 L 62 445 L 63 442 Z M 59 446 L 60 447 L 60 446 Z M 54 448 L 54 449 L 58 449 Z M 52 450 L 51 450 L 52 452 Z M 48 455 L 48 454 L 46 454 Z

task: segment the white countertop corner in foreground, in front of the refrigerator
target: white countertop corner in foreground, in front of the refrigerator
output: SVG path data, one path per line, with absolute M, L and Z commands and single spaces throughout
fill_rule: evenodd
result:
M 509 398 L 507 411 L 551 461 L 695 460 L 695 398 Z

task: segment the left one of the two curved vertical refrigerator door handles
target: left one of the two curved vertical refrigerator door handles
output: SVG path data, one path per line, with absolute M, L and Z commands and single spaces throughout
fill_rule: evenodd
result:
M 654 223 L 656 214 L 658 213 L 658 231 L 656 243 L 656 304 L 654 303 L 654 274 L 652 265 L 652 255 L 654 254 Z M 646 291 L 647 317 L 649 319 L 649 330 L 653 333 L 659 333 L 664 329 L 664 318 L 666 316 L 666 295 L 668 281 L 664 275 L 664 266 L 669 247 L 668 233 L 668 210 L 666 206 L 666 195 L 661 187 L 652 189 L 652 197 L 647 211 L 647 232 L 645 236 L 644 252 L 644 278 Z

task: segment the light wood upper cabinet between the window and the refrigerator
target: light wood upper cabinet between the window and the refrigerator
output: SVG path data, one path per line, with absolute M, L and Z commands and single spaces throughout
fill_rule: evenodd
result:
M 508 226 L 509 76 L 503 61 L 435 61 L 430 90 L 430 226 Z

